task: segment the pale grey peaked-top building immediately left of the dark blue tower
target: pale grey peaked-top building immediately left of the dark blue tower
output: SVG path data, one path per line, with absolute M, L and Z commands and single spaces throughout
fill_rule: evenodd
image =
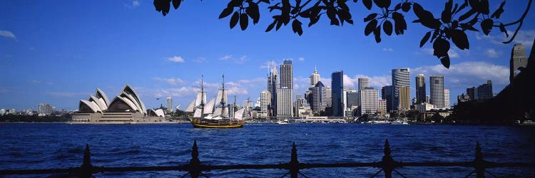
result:
M 325 87 L 321 81 L 312 88 L 312 112 L 319 114 L 331 106 L 331 89 Z

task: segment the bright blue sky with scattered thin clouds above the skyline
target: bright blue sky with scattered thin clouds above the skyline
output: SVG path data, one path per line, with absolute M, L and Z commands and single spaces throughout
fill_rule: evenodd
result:
M 444 2 L 421 4 L 439 16 Z M 500 2 L 491 1 L 491 11 Z M 521 16 L 526 3 L 507 1 L 502 21 Z M 153 1 L 0 1 L 0 108 L 35 109 L 50 103 L 75 110 L 78 100 L 96 88 L 112 99 L 125 83 L 147 108 L 165 105 L 167 97 L 185 108 L 199 88 L 200 75 L 210 97 L 222 74 L 229 94 L 242 103 L 256 100 L 266 88 L 266 66 L 287 58 L 294 61 L 294 93 L 304 93 L 315 66 L 326 85 L 333 71 L 344 70 L 345 85 L 355 88 L 362 76 L 370 77 L 375 88 L 389 85 L 390 71 L 407 67 L 412 86 L 417 73 L 424 73 L 427 82 L 429 75 L 444 75 L 453 105 L 465 88 L 486 80 L 493 81 L 494 93 L 503 89 L 509 83 L 512 46 L 524 43 L 530 51 L 535 38 L 531 9 L 514 43 L 501 44 L 505 37 L 497 28 L 489 36 L 469 32 L 470 49 L 452 44 L 452 67 L 447 69 L 430 54 L 431 44 L 419 48 L 427 31 L 410 23 L 416 19 L 412 11 L 404 35 L 383 33 L 382 42 L 375 43 L 373 36 L 364 36 L 362 19 L 379 9 L 368 11 L 360 1 L 350 4 L 355 25 L 329 26 L 324 18 L 311 28 L 303 26 L 304 33 L 297 36 L 291 26 L 265 33 L 272 22 L 266 5 L 260 6 L 260 23 L 241 31 L 229 28 L 230 16 L 218 19 L 225 1 L 184 1 L 165 17 L 154 10 Z

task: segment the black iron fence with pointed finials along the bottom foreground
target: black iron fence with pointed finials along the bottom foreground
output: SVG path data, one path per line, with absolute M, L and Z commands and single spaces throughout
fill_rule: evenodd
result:
M 282 164 L 235 164 L 235 165 L 206 165 L 201 164 L 199 159 L 199 152 L 197 141 L 193 142 L 193 149 L 191 151 L 191 159 L 189 164 L 178 166 L 159 166 L 159 167 L 98 167 L 91 164 L 91 154 L 89 152 L 89 145 L 86 145 L 86 151 L 83 154 L 83 164 L 80 167 L 71 167 L 68 169 L 19 169 L 19 170 L 0 170 L 0 175 L 9 174 L 69 174 L 76 177 L 92 177 L 93 174 L 101 172 L 147 172 L 147 171 L 181 171 L 187 172 L 182 177 L 190 175 L 190 177 L 208 177 L 203 172 L 210 170 L 228 170 L 228 169 L 286 169 L 288 172 L 282 177 L 290 175 L 290 177 L 307 177 L 302 174 L 300 170 L 310 168 L 332 168 L 332 167 L 376 167 L 379 171 L 371 177 L 376 177 L 380 172 L 384 172 L 384 177 L 392 177 L 392 172 L 404 177 L 398 172 L 396 168 L 399 167 L 472 167 L 474 170 L 467 174 L 467 177 L 476 174 L 476 177 L 485 177 L 490 175 L 496 177 L 486 169 L 493 167 L 531 167 L 535 168 L 535 162 L 488 162 L 483 159 L 481 147 L 479 142 L 476 145 L 475 158 L 468 162 L 397 162 L 390 156 L 390 146 L 388 140 L 384 142 L 384 156 L 379 162 L 350 162 L 350 163 L 327 163 L 327 164 L 307 164 L 300 163 L 297 160 L 297 148 L 295 142 L 292 145 L 292 155 L 290 162 Z

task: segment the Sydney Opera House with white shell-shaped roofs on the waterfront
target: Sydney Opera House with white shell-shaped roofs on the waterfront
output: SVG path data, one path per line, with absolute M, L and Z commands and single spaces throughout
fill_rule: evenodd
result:
M 136 123 L 164 122 L 162 109 L 147 110 L 136 90 L 126 84 L 113 100 L 106 93 L 96 89 L 88 100 L 80 100 L 73 123 Z

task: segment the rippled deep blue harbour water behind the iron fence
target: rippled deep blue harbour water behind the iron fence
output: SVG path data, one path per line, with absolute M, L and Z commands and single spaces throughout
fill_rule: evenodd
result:
M 186 164 L 197 140 L 203 164 L 288 162 L 292 142 L 300 162 L 378 162 L 388 139 L 394 160 L 463 162 L 484 159 L 535 162 L 534 127 L 465 125 L 248 124 L 238 129 L 198 129 L 190 124 L 0 124 L 0 169 L 78 167 L 86 143 L 93 165 L 104 167 Z M 535 177 L 529 168 L 488 169 L 499 177 Z M 307 177 L 370 177 L 378 168 L 305 169 Z M 465 167 L 403 167 L 407 177 L 464 177 Z M 281 177 L 283 169 L 205 172 L 210 177 Z M 96 177 L 180 177 L 185 172 L 108 172 Z M 383 174 L 379 174 L 381 177 Z M 61 175 L 52 175 L 61 176 Z M 17 176 L 18 177 L 18 176 Z

